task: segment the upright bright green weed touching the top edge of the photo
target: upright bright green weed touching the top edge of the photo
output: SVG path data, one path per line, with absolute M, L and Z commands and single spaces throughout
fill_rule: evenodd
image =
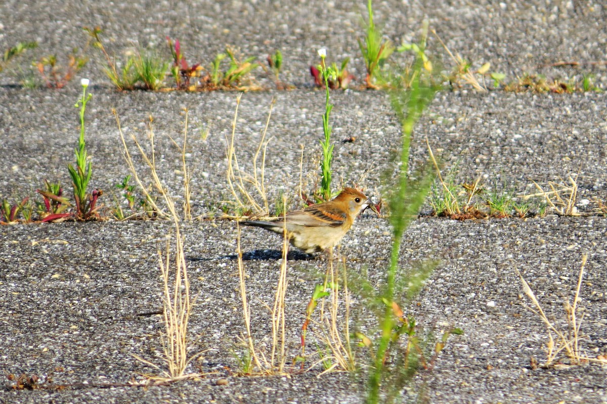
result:
M 367 67 L 367 78 L 365 78 L 367 87 L 377 89 L 382 87 L 382 85 L 378 85 L 382 81 L 381 69 L 394 52 L 395 47 L 392 41 L 383 38 L 381 30 L 376 27 L 375 21 L 373 21 L 371 0 L 367 1 L 367 12 L 364 42 L 359 39 L 358 45 L 365 60 L 365 67 Z

